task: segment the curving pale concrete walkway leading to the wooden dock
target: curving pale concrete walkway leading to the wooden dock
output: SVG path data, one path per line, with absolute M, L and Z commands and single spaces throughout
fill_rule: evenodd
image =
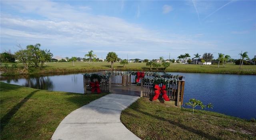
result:
M 52 140 L 140 140 L 120 121 L 122 110 L 140 97 L 108 94 L 71 112 Z

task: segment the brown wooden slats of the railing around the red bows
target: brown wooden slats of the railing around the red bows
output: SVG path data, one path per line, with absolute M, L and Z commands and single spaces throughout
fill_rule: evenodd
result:
M 153 80 L 149 82 L 143 82 L 143 78 L 140 78 L 139 82 L 136 83 L 136 75 L 128 75 L 128 76 L 121 76 L 121 75 L 112 75 L 109 79 L 106 79 L 103 75 L 104 72 L 97 72 L 96 74 L 100 75 L 101 82 L 100 82 L 100 90 L 101 92 L 111 92 L 112 85 L 122 85 L 126 86 L 127 84 L 137 84 L 141 85 L 141 97 L 154 97 L 154 84 Z M 154 76 L 144 76 L 144 78 L 154 78 Z M 174 78 L 174 77 L 169 77 Z M 168 78 L 167 78 L 168 79 Z M 97 79 L 93 79 L 95 82 Z M 162 87 L 162 83 L 159 84 Z M 167 88 L 167 96 L 170 100 L 176 101 L 176 106 L 179 104 L 183 104 L 183 97 L 184 97 L 184 86 L 185 86 L 185 77 L 178 76 L 178 80 L 176 84 L 172 84 L 172 80 L 168 83 Z M 91 93 L 91 86 L 90 86 L 90 78 L 86 78 L 84 75 L 84 94 Z M 96 92 L 96 91 L 95 91 Z M 159 98 L 161 99 L 162 96 L 160 94 Z

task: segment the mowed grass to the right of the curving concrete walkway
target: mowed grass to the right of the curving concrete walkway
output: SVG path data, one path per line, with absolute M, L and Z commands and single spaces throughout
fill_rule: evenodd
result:
M 256 140 L 256 122 L 216 112 L 174 108 L 140 98 L 122 111 L 122 123 L 142 140 Z

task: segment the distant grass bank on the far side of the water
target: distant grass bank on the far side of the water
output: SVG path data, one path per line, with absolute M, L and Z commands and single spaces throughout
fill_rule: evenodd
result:
M 12 67 L 12 64 L 8 64 L 8 68 L 5 65 L 1 66 L 2 76 L 19 75 L 19 74 L 48 74 L 48 73 L 65 73 L 65 72 L 90 72 L 90 71 L 105 71 L 111 70 L 110 63 L 107 62 L 94 62 L 89 65 L 88 62 L 56 62 L 47 63 L 44 65 L 42 70 L 31 69 L 24 70 L 22 64 L 16 64 L 17 68 Z M 120 63 L 114 63 L 114 70 L 133 70 L 133 71 L 150 71 L 150 67 L 146 66 L 146 63 L 128 63 L 121 65 Z M 166 70 L 162 67 L 156 68 L 152 67 L 151 71 L 158 72 L 190 72 L 190 73 L 218 73 L 218 74 L 248 74 L 256 75 L 256 65 L 243 65 L 240 68 L 239 65 L 228 63 L 224 67 L 220 65 L 195 65 L 195 64 L 177 64 L 171 63 Z

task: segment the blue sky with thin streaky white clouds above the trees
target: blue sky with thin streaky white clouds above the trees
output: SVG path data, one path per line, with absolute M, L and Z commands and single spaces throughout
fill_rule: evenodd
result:
M 41 44 L 54 56 L 177 59 L 256 55 L 256 1 L 1 0 L 0 52 Z

